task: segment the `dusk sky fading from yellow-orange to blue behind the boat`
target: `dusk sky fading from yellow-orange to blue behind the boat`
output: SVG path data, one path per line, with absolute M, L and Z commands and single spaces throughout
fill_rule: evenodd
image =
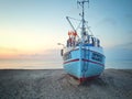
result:
M 65 16 L 80 19 L 77 0 L 0 0 L 0 58 L 61 58 L 70 30 Z M 86 20 L 108 59 L 132 61 L 132 0 L 90 0 Z

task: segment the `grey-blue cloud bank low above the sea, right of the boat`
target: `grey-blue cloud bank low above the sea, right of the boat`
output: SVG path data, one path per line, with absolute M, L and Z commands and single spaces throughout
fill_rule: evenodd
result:
M 132 61 L 132 42 L 106 50 L 108 61 Z

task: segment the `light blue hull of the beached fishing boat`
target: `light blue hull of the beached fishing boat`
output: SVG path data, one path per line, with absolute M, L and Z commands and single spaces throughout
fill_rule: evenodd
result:
M 105 69 L 105 56 L 91 50 L 76 48 L 68 52 L 67 58 L 64 59 L 64 69 L 80 80 L 96 77 Z

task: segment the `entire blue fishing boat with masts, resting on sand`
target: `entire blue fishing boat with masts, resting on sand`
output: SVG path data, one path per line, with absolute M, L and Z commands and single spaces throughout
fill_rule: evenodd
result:
M 79 82 L 100 76 L 105 69 L 106 58 L 100 40 L 94 36 L 88 26 L 88 21 L 85 20 L 85 3 L 89 4 L 89 0 L 77 1 L 77 4 L 82 10 L 79 13 L 81 19 L 77 20 L 80 21 L 79 26 L 75 29 L 70 22 L 73 18 L 66 16 L 72 31 L 68 32 L 66 45 L 58 43 L 58 45 L 63 45 L 61 55 L 64 61 L 65 72 L 78 79 Z M 78 30 L 80 30 L 79 35 Z

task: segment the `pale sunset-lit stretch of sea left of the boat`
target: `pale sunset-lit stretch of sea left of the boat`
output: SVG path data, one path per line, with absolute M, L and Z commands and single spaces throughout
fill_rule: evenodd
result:
M 61 61 L 44 59 L 0 59 L 0 69 L 57 69 L 63 68 Z

